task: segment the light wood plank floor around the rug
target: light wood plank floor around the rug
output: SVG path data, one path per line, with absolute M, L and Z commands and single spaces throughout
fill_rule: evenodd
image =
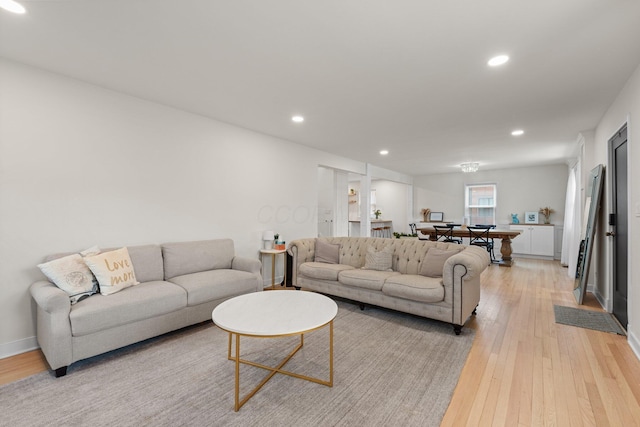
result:
M 476 339 L 443 426 L 640 426 L 640 361 L 626 337 L 555 323 L 577 307 L 567 270 L 518 259 L 482 276 Z M 585 306 L 601 308 L 588 294 Z M 0 360 L 0 384 L 47 369 L 39 351 Z

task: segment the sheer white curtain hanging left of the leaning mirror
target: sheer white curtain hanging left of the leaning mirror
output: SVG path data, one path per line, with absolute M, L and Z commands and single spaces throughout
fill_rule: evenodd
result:
M 580 160 L 569 171 L 567 196 L 564 207 L 564 232 L 562 235 L 562 256 L 560 262 L 568 266 L 567 274 L 575 277 L 580 249 Z

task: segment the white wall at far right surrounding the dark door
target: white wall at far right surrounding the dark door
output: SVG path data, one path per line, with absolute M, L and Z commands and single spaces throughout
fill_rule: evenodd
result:
M 605 167 L 609 166 L 608 160 L 608 141 L 625 123 L 628 123 L 628 162 L 629 162 L 629 276 L 628 276 L 628 337 L 631 346 L 636 355 L 640 357 L 640 264 L 633 262 L 638 260 L 640 255 L 640 215 L 637 215 L 636 207 L 640 203 L 640 171 L 635 165 L 640 164 L 640 149 L 638 149 L 638 141 L 640 141 L 640 67 L 638 67 L 633 75 L 627 81 L 627 84 L 618 95 L 615 102 L 611 105 L 607 113 L 598 124 L 594 137 L 593 161 L 585 162 L 583 174 L 588 175 L 597 164 L 602 163 Z M 603 302 L 609 310 L 612 307 L 611 289 L 612 289 L 612 271 L 611 271 L 611 254 L 612 241 L 604 236 L 606 227 L 606 218 L 610 212 L 611 206 L 611 177 L 605 170 L 606 184 L 604 187 L 605 203 L 601 206 L 602 215 L 600 216 L 598 233 L 596 235 L 597 248 L 595 254 L 597 259 L 594 264 L 597 268 L 596 286 L 598 298 Z M 640 209 L 640 206 L 638 206 Z M 593 265 L 593 264 L 592 264 Z

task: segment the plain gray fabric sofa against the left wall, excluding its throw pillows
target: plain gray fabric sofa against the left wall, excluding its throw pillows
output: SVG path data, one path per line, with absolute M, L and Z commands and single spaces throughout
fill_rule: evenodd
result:
M 262 291 L 260 261 L 235 256 L 231 239 L 128 251 L 140 283 L 112 295 L 95 294 L 72 305 L 49 281 L 31 285 L 38 344 L 56 377 L 73 362 L 210 320 L 226 299 Z

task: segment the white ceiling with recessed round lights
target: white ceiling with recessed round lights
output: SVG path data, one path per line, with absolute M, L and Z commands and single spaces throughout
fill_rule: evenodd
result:
M 410 175 L 563 162 L 640 64 L 636 0 L 22 3 L 5 58 Z

